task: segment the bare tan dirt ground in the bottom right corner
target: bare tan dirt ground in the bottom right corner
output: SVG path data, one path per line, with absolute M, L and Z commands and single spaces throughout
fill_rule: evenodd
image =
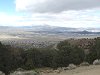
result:
M 42 73 L 42 75 L 100 75 L 100 65 L 78 67 L 74 70 L 66 70 L 61 73 Z

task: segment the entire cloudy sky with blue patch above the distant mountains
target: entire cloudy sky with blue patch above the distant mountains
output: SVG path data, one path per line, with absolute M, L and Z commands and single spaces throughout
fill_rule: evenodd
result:
M 0 0 L 0 26 L 100 28 L 100 0 Z

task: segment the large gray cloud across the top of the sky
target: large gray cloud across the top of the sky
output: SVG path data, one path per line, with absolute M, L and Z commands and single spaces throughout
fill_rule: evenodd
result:
M 24 11 L 38 13 L 59 13 L 67 10 L 83 10 L 100 6 L 100 0 L 45 0 L 44 2 L 32 1 Z

